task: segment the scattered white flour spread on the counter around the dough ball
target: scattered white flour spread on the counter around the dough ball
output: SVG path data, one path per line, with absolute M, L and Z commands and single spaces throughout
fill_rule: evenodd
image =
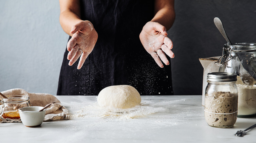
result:
M 110 112 L 102 109 L 96 101 L 86 100 L 82 103 L 71 102 L 63 103 L 63 105 L 69 105 L 68 110 L 71 116 L 71 120 L 76 122 L 77 120 L 90 120 L 88 126 L 97 126 L 105 122 L 125 122 L 129 121 L 151 121 L 164 125 L 176 125 L 182 123 L 184 120 L 193 120 L 196 111 L 191 110 L 191 105 L 182 104 L 185 103 L 185 99 L 177 100 L 143 100 L 141 105 L 124 112 Z M 201 106 L 198 106 L 201 108 Z M 182 112 L 183 114 L 179 114 Z M 197 115 L 196 118 L 203 117 L 203 114 Z

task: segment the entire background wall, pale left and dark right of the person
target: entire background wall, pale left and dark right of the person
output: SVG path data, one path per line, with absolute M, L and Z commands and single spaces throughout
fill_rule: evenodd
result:
M 175 95 L 202 94 L 198 59 L 222 54 L 226 42 L 214 17 L 222 20 L 231 42 L 256 42 L 255 6 L 253 0 L 175 1 L 176 20 L 168 31 L 174 42 Z M 23 88 L 55 95 L 67 40 L 57 0 L 0 0 L 0 91 Z

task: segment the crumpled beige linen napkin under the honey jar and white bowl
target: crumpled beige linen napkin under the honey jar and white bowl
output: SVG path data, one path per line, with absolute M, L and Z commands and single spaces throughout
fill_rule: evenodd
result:
M 30 97 L 30 103 L 33 106 L 42 106 L 44 107 L 45 105 L 56 102 L 50 107 L 48 107 L 45 111 L 45 118 L 44 121 L 48 120 L 58 120 L 58 119 L 65 119 L 68 120 L 70 119 L 70 116 L 68 115 L 68 109 L 62 106 L 60 101 L 53 95 L 47 94 L 47 93 L 29 93 L 24 89 L 20 88 L 15 88 L 15 89 L 10 89 L 1 92 L 5 96 L 9 95 L 27 95 Z M 2 100 L 2 97 L 0 96 L 0 99 Z M 2 117 L 2 116 L 1 116 Z M 0 123 L 1 122 L 21 122 L 20 119 L 4 119 L 0 118 Z

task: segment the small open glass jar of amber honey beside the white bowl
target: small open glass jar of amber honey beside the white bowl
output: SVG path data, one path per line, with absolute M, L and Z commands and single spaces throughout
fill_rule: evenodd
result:
M 3 104 L 2 118 L 4 119 L 20 119 L 19 108 L 32 106 L 28 96 L 24 95 L 9 95 L 8 99 L 3 98 L 1 103 Z

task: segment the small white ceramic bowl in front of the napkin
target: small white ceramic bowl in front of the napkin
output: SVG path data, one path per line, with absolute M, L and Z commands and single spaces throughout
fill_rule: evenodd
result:
M 45 110 L 40 111 L 44 107 L 31 106 L 19 109 L 20 119 L 26 127 L 37 127 L 44 121 Z

